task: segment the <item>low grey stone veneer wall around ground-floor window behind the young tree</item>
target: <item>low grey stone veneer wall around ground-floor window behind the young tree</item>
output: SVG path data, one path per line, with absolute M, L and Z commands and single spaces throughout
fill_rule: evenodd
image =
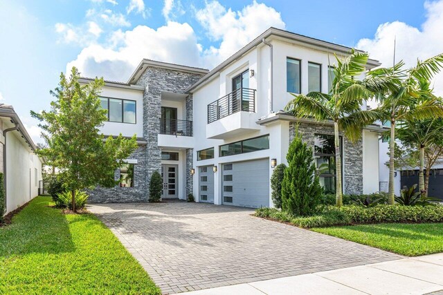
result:
M 137 160 L 134 164 L 134 187 L 96 187 L 89 191 L 89 200 L 91 203 L 125 203 L 125 202 L 147 202 L 148 182 L 147 178 L 147 158 L 146 145 L 138 146 L 138 149 L 129 159 Z M 120 178 L 120 170 L 116 170 L 114 180 Z

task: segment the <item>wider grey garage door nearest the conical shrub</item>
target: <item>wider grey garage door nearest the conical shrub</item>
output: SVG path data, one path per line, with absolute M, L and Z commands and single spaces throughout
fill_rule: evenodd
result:
M 221 196 L 226 205 L 269 207 L 269 159 L 223 164 Z

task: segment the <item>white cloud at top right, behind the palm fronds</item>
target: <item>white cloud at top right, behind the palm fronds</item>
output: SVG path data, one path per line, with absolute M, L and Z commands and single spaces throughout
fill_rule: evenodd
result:
M 443 52 L 443 0 L 424 3 L 426 20 L 421 28 L 401 21 L 383 23 L 373 39 L 361 39 L 356 47 L 368 51 L 370 57 L 379 59 L 383 66 L 392 66 L 394 39 L 395 59 L 403 59 L 406 66 L 414 66 L 418 59 L 427 59 Z M 443 73 L 435 77 L 435 92 L 443 95 Z

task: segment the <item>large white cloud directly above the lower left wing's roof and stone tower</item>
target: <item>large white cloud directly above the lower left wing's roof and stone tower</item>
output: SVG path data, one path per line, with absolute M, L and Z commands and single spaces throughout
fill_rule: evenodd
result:
M 125 81 L 143 58 L 200 65 L 197 37 L 188 23 L 170 21 L 157 30 L 137 26 L 126 32 L 117 31 L 113 37 L 113 46 L 93 44 L 84 48 L 66 70 L 76 66 L 83 76 Z

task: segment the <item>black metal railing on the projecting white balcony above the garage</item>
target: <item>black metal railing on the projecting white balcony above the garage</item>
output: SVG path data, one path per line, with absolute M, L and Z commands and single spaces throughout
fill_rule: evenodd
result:
M 239 111 L 255 112 L 255 89 L 239 88 L 208 104 L 208 124 Z

